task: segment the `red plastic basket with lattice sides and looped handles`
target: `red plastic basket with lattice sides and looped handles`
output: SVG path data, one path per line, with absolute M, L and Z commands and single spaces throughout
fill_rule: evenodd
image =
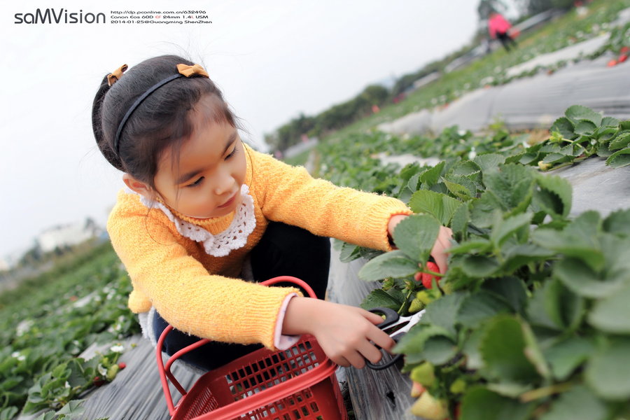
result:
M 291 281 L 314 297 L 307 283 L 290 276 L 262 282 L 271 285 Z M 335 370 L 316 339 L 304 335 L 297 344 L 283 351 L 260 349 L 207 372 L 186 391 L 171 373 L 171 366 L 183 354 L 207 344 L 201 339 L 162 359 L 162 344 L 173 329 L 168 326 L 158 340 L 158 370 L 162 379 L 171 420 L 347 420 Z M 182 397 L 176 407 L 168 381 Z

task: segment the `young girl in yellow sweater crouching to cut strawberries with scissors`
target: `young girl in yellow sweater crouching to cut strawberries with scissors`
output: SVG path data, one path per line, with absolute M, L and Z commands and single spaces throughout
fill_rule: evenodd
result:
M 261 344 L 286 349 L 306 333 L 339 365 L 376 363 L 377 346 L 394 344 L 376 326 L 381 317 L 323 300 L 328 237 L 390 251 L 393 228 L 412 212 L 253 151 L 200 65 L 169 55 L 126 69 L 102 80 L 92 125 L 124 172 L 107 229 L 145 335 L 155 344 L 173 325 L 169 354 L 213 339 L 184 359 L 204 369 Z M 442 272 L 449 237 L 442 228 L 432 252 Z M 280 275 L 306 281 L 319 299 L 255 283 Z

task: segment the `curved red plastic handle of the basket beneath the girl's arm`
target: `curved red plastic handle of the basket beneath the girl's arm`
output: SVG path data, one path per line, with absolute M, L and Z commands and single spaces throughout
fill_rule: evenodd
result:
M 290 283 L 295 283 L 297 286 L 300 286 L 301 288 L 306 290 L 309 297 L 313 297 L 316 299 L 315 292 L 313 291 L 311 286 L 309 286 L 305 281 L 297 279 L 297 277 L 278 276 L 278 277 L 274 277 L 273 279 L 261 281 L 260 284 L 263 284 L 265 286 L 272 286 L 273 284 L 279 283 L 281 281 L 288 281 Z M 173 376 L 171 372 L 171 366 L 173 365 L 175 360 L 179 359 L 184 354 L 188 353 L 189 351 L 193 351 L 197 349 L 198 347 L 201 347 L 204 344 L 208 344 L 209 342 L 212 341 L 211 339 L 202 338 L 199 341 L 193 344 L 190 344 L 184 347 L 183 349 L 180 349 L 176 353 L 174 353 L 173 356 L 168 358 L 167 363 L 165 364 L 164 359 L 162 358 L 162 346 L 164 346 L 164 342 L 167 335 L 169 335 L 169 332 L 171 332 L 173 329 L 174 328 L 172 325 L 167 325 L 167 328 L 165 328 L 164 331 L 162 331 L 162 334 L 160 334 L 160 339 L 158 339 L 158 345 L 155 347 L 155 353 L 158 358 L 158 371 L 160 372 L 160 381 L 162 381 L 162 391 L 164 391 L 167 407 L 169 408 L 169 414 L 171 416 L 175 413 L 175 406 L 173 404 L 173 396 L 171 395 L 171 390 L 169 388 L 169 380 L 172 382 L 175 388 L 177 388 L 177 391 L 181 393 L 182 397 L 186 396 L 186 393 L 188 392 L 186 391 L 185 388 L 183 388 L 183 386 L 181 386 L 179 381 L 177 381 L 177 379 L 175 379 L 175 377 Z

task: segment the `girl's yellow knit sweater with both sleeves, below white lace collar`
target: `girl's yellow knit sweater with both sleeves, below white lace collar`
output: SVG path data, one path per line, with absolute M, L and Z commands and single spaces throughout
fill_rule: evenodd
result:
M 134 313 L 153 306 L 183 332 L 221 342 L 262 343 L 273 349 L 281 304 L 297 289 L 237 278 L 268 221 L 389 251 L 389 218 L 412 212 L 391 197 L 339 188 L 311 178 L 302 167 L 290 167 L 248 147 L 246 151 L 245 183 L 253 197 L 255 228 L 241 248 L 223 257 L 209 255 L 202 242 L 181 235 L 164 211 L 146 207 L 139 195 L 124 190 L 118 194 L 107 230 L 132 279 L 129 307 Z M 170 211 L 176 222 L 192 223 L 211 235 L 223 232 L 235 217 L 233 212 L 200 220 Z

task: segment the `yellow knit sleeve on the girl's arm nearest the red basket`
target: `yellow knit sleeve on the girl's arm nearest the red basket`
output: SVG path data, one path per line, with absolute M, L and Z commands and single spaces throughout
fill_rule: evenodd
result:
M 279 311 L 285 298 L 299 290 L 209 274 L 178 242 L 166 216 L 162 220 L 161 211 L 149 213 L 117 205 L 107 224 L 113 248 L 134 286 L 131 309 L 148 310 L 133 307 L 143 300 L 141 295 L 178 330 L 274 349 Z

